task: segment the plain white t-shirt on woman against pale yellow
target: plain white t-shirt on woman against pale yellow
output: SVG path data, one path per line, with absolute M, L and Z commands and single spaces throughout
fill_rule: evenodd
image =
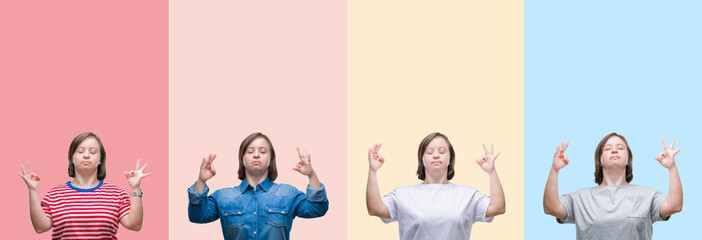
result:
M 419 184 L 396 188 L 383 197 L 390 218 L 398 221 L 401 240 L 470 239 L 474 222 L 492 222 L 486 218 L 490 196 L 469 186 Z

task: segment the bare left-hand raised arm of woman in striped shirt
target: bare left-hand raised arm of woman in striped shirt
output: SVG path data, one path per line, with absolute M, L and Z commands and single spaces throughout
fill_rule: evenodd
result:
M 27 184 L 27 189 L 29 190 L 29 217 L 32 220 L 32 227 L 34 227 L 34 231 L 37 233 L 49 231 L 53 226 L 53 222 L 51 218 L 47 217 L 46 213 L 44 213 L 44 209 L 41 207 L 41 201 L 37 195 L 37 187 L 39 187 L 41 177 L 30 171 L 29 163 L 27 163 L 27 168 L 24 168 L 24 166 L 20 164 L 20 168 L 22 172 L 18 174 L 22 177 L 24 183 Z

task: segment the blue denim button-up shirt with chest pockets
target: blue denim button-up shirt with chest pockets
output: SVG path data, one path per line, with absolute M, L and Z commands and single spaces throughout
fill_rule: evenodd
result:
M 207 196 L 209 188 L 188 188 L 188 217 L 194 223 L 220 219 L 224 239 L 289 239 L 295 217 L 316 218 L 329 209 L 327 192 L 307 185 L 307 195 L 287 184 L 266 178 L 253 186 L 244 179 L 239 186 Z

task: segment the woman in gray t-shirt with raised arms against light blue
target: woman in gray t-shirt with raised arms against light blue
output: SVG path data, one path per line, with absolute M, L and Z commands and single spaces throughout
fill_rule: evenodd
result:
M 651 239 L 652 224 L 667 221 L 682 210 L 682 184 L 675 165 L 675 154 L 663 139 L 663 149 L 655 157 L 670 172 L 666 197 L 655 189 L 629 184 L 632 173 L 631 149 L 624 136 L 610 133 L 595 150 L 596 187 L 582 188 L 558 197 L 558 171 L 568 165 L 561 143 L 544 190 L 544 212 L 558 223 L 575 223 L 577 239 Z

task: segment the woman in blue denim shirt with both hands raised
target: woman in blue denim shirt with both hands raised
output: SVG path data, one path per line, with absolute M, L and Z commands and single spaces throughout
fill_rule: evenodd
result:
M 224 188 L 207 196 L 205 182 L 215 171 L 217 155 L 202 159 L 197 182 L 188 188 L 188 217 L 194 223 L 221 219 L 224 239 L 289 239 L 295 217 L 324 216 L 329 201 L 324 185 L 312 169 L 310 154 L 300 151 L 293 170 L 309 178 L 307 194 L 287 184 L 277 184 L 275 150 L 268 136 L 253 133 L 239 146 L 239 186 Z

